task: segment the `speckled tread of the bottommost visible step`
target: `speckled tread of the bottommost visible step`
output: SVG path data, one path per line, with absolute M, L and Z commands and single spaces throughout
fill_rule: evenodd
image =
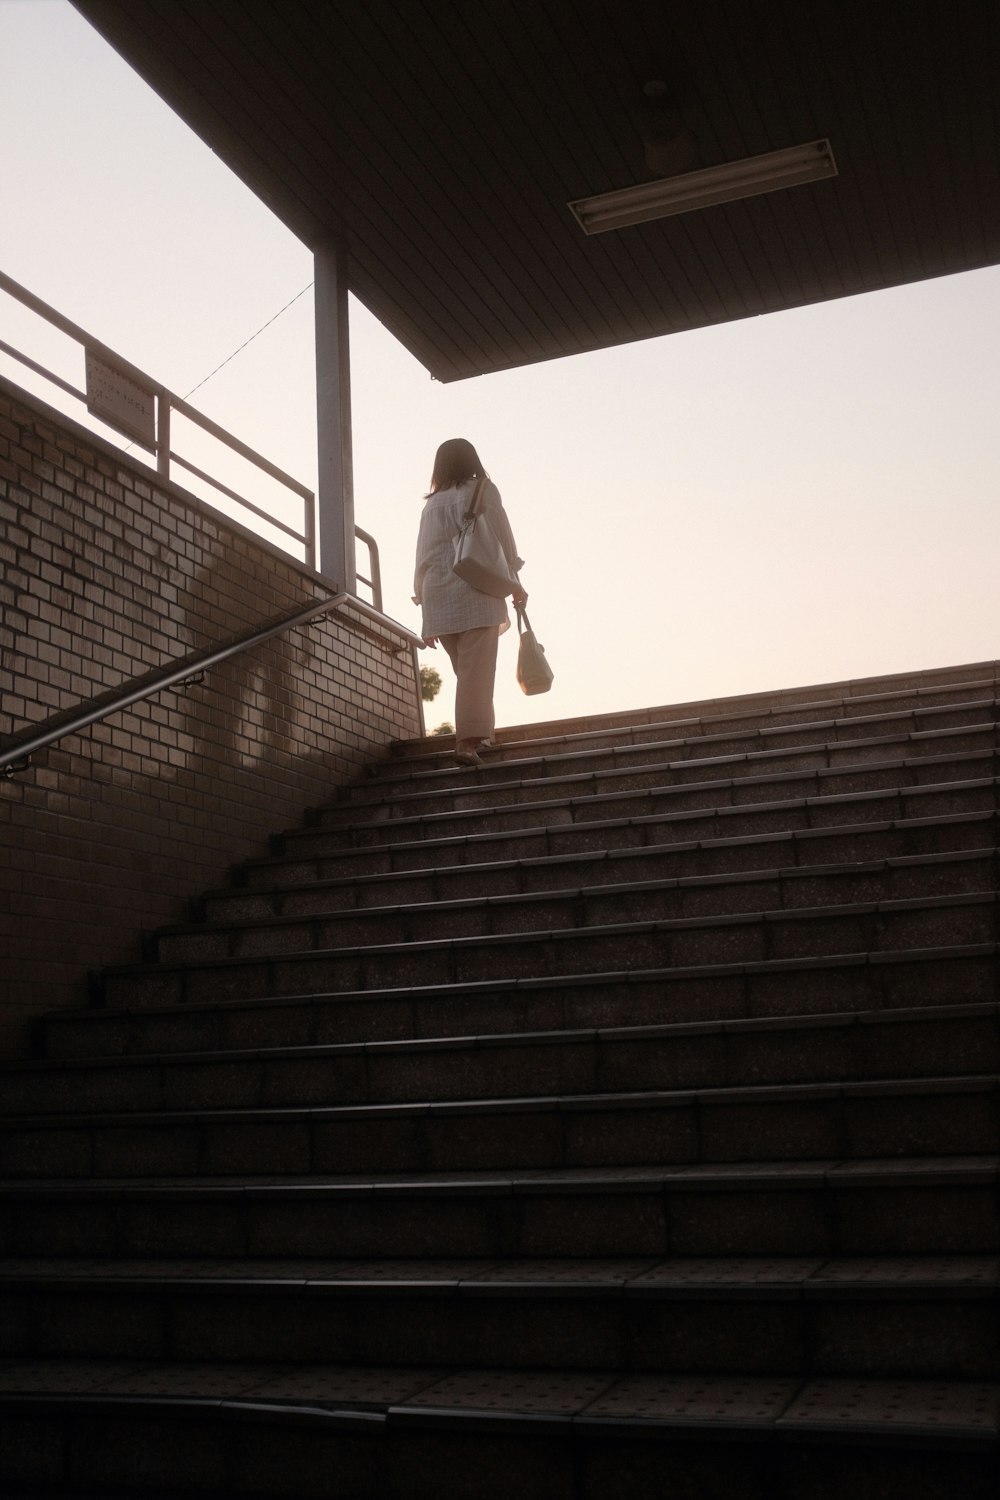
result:
M 1000 1440 L 994 1382 L 819 1378 L 801 1376 L 621 1376 L 613 1371 L 510 1371 L 312 1365 L 177 1365 L 103 1360 L 3 1360 L 0 1392 L 66 1401 L 67 1386 L 91 1401 L 171 1400 L 288 1404 L 382 1412 L 426 1425 L 462 1416 L 493 1420 L 615 1422 L 669 1430 L 885 1432 Z

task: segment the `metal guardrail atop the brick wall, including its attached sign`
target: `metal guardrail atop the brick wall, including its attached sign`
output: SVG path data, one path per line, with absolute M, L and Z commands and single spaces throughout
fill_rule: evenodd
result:
M 307 567 L 315 570 L 316 566 L 316 496 L 291 474 L 277 468 L 270 459 L 265 459 L 262 453 L 250 448 L 246 442 L 241 442 L 225 428 L 220 428 L 204 412 L 198 411 L 195 406 L 189 406 L 183 398 L 175 396 L 166 386 L 154 381 L 138 366 L 132 364 L 129 360 L 121 358 L 114 350 L 94 339 L 93 334 L 87 333 L 78 324 L 64 318 L 61 312 L 51 308 L 34 292 L 28 291 L 27 286 L 21 286 L 10 276 L 0 272 L 0 291 L 7 292 L 24 308 L 37 314 L 60 333 L 67 334 L 84 350 L 84 358 L 87 364 L 87 390 L 79 390 L 69 381 L 63 380 L 54 370 L 46 369 L 36 360 L 30 358 L 21 350 L 13 348 L 13 345 L 6 344 L 0 339 L 0 351 L 7 354 L 10 358 L 16 360 L 25 369 L 33 370 L 33 374 L 40 375 L 48 380 L 58 390 L 66 392 L 66 394 L 73 396 L 81 400 L 91 417 L 112 428 L 118 434 L 130 438 L 130 441 L 141 450 L 153 454 L 153 465 L 157 476 L 169 482 L 171 465 L 177 465 L 187 474 L 193 474 L 202 483 L 211 486 L 226 500 L 240 506 L 243 510 L 249 512 L 252 516 L 267 522 L 268 526 L 274 526 L 276 531 L 286 536 L 291 542 L 298 543 L 304 552 L 304 561 Z M 301 531 L 295 531 L 294 526 L 286 525 L 274 514 L 268 514 L 253 501 L 246 500 L 246 496 L 238 495 L 222 480 L 214 478 L 205 470 L 192 464 L 183 454 L 175 453 L 171 448 L 171 417 L 181 416 L 192 422 L 202 432 L 207 432 L 216 441 L 222 442 L 232 453 L 246 459 L 262 474 L 276 480 L 285 489 L 297 495 L 303 504 L 303 524 Z M 369 573 L 370 578 L 358 574 L 358 582 L 366 584 L 372 590 L 372 603 L 375 609 L 381 612 L 382 609 L 382 584 L 378 561 L 378 543 L 367 531 L 361 531 L 360 526 L 355 528 L 355 536 L 364 542 L 369 549 Z

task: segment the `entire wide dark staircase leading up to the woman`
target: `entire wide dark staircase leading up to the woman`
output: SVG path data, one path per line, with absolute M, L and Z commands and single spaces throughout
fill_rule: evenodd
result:
M 996 1496 L 1000 664 L 399 747 L 0 1074 L 18 1494 Z

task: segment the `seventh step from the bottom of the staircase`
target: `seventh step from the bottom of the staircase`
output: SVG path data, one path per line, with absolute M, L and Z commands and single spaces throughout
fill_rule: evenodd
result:
M 855 902 L 838 908 L 729 914 L 724 916 L 646 920 L 558 930 L 502 928 L 502 909 L 490 906 L 493 932 L 390 944 L 334 946 L 336 918 L 247 927 L 184 942 L 184 962 L 111 969 L 111 1005 L 391 988 L 412 984 L 496 984 L 531 978 L 594 975 L 607 970 L 690 968 L 774 958 L 888 952 L 996 944 L 1000 900 L 996 891 L 895 902 Z M 228 956 L 220 954 L 225 945 Z M 234 951 L 235 950 L 235 951 Z

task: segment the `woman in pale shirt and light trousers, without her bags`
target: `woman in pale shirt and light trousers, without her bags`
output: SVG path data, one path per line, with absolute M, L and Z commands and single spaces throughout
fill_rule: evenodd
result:
M 466 438 L 448 438 L 435 454 L 430 492 L 420 518 L 414 573 L 414 604 L 423 609 L 424 645 L 441 642 L 457 680 L 454 732 L 459 765 L 481 765 L 478 750 L 489 746 L 493 736 L 496 642 L 510 628 L 507 602 L 480 592 L 451 570 L 454 540 L 480 478 L 484 478 L 480 512 L 504 549 L 511 579 L 517 579 L 523 562 L 517 556 L 499 490 Z M 511 597 L 522 608 L 528 600 L 520 584 L 516 584 Z

